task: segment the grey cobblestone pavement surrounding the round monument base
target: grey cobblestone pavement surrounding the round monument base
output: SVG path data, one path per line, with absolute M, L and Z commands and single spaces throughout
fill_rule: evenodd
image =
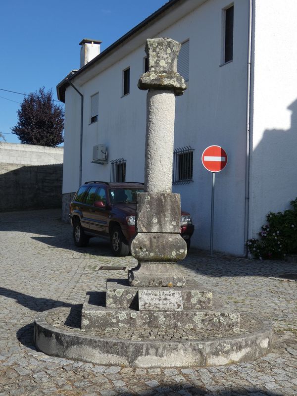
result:
M 238 365 L 133 369 L 47 356 L 32 346 L 37 312 L 81 304 L 106 278 L 133 267 L 93 239 L 75 248 L 58 210 L 0 214 L 0 396 L 2 395 L 297 395 L 297 282 L 269 278 L 297 273 L 297 264 L 255 261 L 192 250 L 183 271 L 212 290 L 227 308 L 273 321 L 276 346 Z

